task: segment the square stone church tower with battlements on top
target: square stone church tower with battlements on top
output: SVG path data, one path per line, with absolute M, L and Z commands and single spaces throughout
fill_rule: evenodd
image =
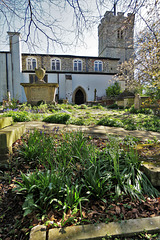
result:
M 120 63 L 133 57 L 134 15 L 107 11 L 98 26 L 99 57 L 120 58 Z

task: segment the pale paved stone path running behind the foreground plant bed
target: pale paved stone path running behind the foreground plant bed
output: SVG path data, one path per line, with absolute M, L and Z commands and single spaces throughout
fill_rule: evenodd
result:
M 49 131 L 52 131 L 53 128 L 58 128 L 59 130 L 69 130 L 69 131 L 84 131 L 88 134 L 95 135 L 98 137 L 105 137 L 108 134 L 111 135 L 118 135 L 120 137 L 125 136 L 134 136 L 137 138 L 140 138 L 141 140 L 145 141 L 147 139 L 153 140 L 154 137 L 156 137 L 158 140 L 160 140 L 160 133 L 158 132 L 152 132 L 152 131 L 139 131 L 139 130 L 133 130 L 128 131 L 124 128 L 116 128 L 116 127 L 106 127 L 106 126 L 76 126 L 76 125 L 65 125 L 65 124 L 52 124 L 52 123 L 44 123 L 44 122 L 26 122 L 26 129 L 48 129 Z

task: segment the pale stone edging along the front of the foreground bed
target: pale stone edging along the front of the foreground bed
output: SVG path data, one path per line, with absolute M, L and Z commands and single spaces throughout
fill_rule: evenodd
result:
M 134 236 L 143 231 L 148 233 L 160 232 L 160 216 L 123 220 L 108 224 L 54 228 L 50 229 L 47 234 L 46 227 L 38 225 L 32 228 L 30 240 L 96 240 L 107 236 Z

